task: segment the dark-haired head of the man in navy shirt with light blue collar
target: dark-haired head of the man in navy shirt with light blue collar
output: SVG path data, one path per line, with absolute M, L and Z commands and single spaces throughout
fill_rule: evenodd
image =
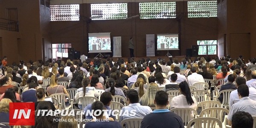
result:
M 168 94 L 163 90 L 159 90 L 156 93 L 154 101 L 158 106 L 166 106 L 168 104 Z

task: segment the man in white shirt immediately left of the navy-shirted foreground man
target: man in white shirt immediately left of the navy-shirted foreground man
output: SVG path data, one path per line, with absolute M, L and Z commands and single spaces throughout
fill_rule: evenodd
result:
M 131 89 L 126 92 L 126 98 L 128 106 L 125 106 L 121 109 L 124 113 L 128 111 L 129 114 L 121 115 L 119 117 L 119 122 L 122 122 L 124 119 L 132 119 L 132 118 L 143 118 L 145 115 L 152 112 L 151 108 L 148 106 L 142 106 L 139 103 L 139 94 L 136 90 Z M 131 114 L 131 111 L 135 111 L 135 115 Z

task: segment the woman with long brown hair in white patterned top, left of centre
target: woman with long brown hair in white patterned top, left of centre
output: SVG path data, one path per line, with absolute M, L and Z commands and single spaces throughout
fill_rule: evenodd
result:
M 82 87 L 77 90 L 75 99 L 77 100 L 79 97 L 83 96 L 99 96 L 99 93 L 96 91 L 95 87 L 90 87 L 90 79 L 88 77 L 84 77 L 84 79 L 82 80 Z M 82 109 L 80 101 L 78 102 L 78 107 L 79 109 Z

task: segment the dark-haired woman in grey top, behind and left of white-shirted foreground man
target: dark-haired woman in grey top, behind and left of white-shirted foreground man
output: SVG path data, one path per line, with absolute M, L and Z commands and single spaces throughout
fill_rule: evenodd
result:
M 107 89 L 105 91 L 110 92 L 112 96 L 118 95 L 126 98 L 122 89 L 115 87 L 115 85 L 116 81 L 113 78 L 108 79 Z

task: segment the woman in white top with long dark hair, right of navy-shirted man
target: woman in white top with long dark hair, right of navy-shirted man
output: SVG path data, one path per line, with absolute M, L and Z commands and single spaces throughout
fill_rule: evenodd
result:
M 197 102 L 194 96 L 191 96 L 189 84 L 183 81 L 179 84 L 180 95 L 172 98 L 171 108 L 197 108 Z M 189 120 L 194 119 L 194 113 L 191 112 Z

